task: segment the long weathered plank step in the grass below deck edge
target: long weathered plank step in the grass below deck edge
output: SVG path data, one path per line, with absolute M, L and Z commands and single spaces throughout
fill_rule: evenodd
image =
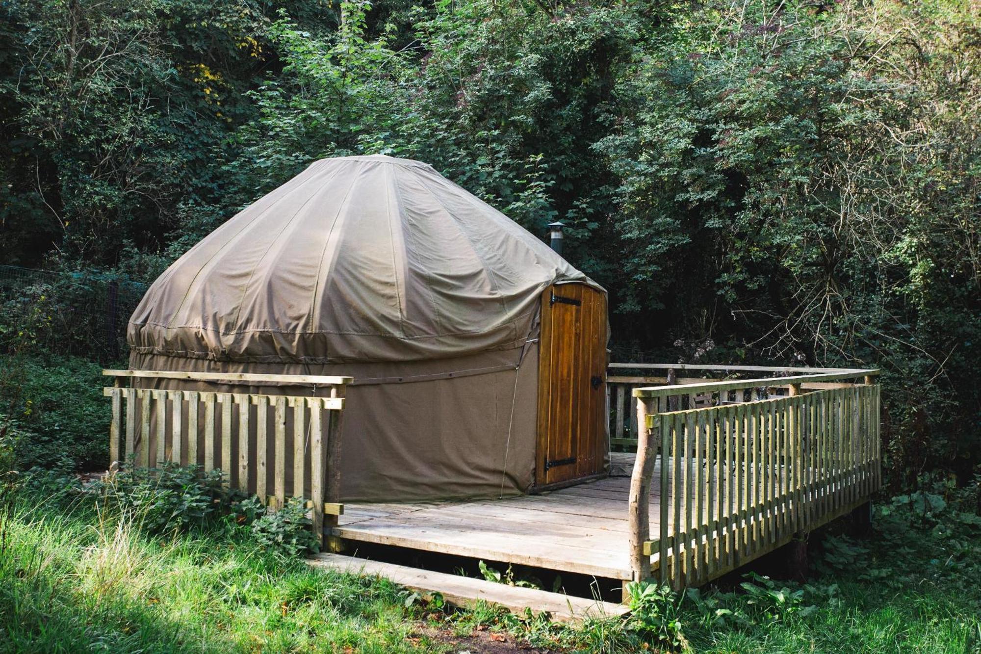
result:
M 552 593 L 536 588 L 519 588 L 458 574 L 431 572 L 340 554 L 318 554 L 307 563 L 314 568 L 384 576 L 423 595 L 438 592 L 443 599 L 455 606 L 470 607 L 483 600 L 517 613 L 523 612 L 526 608 L 536 613 L 547 613 L 552 620 L 560 623 L 582 622 L 585 618 L 621 616 L 628 611 L 622 604 Z

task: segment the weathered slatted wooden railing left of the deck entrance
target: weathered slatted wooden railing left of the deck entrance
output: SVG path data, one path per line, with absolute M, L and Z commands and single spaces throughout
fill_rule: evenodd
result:
M 350 377 L 153 370 L 104 370 L 103 374 L 114 378 L 114 385 L 103 389 L 112 399 L 110 471 L 126 461 L 144 467 L 173 462 L 198 464 L 206 471 L 220 468 L 227 485 L 257 495 L 272 508 L 284 506 L 287 497 L 308 499 L 320 539 L 325 524 L 336 524 L 343 512 L 337 461 Z M 129 386 L 144 379 L 182 380 L 205 388 L 301 386 L 310 387 L 311 394 Z M 292 471 L 288 487 L 287 465 Z

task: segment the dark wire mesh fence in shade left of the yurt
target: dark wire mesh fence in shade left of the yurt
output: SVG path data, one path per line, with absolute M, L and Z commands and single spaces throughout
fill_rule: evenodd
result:
M 125 358 L 127 322 L 146 289 L 97 270 L 0 265 L 0 351 L 30 348 L 102 362 Z

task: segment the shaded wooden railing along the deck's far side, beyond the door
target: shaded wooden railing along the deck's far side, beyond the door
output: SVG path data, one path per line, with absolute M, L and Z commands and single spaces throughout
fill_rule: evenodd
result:
M 610 363 L 606 376 L 606 401 L 609 419 L 610 446 L 618 450 L 634 452 L 637 448 L 637 398 L 634 389 L 648 386 L 689 385 L 722 381 L 724 377 L 748 375 L 761 377 L 760 373 L 774 375 L 765 378 L 762 386 L 747 391 L 755 399 L 789 394 L 782 385 L 781 376 L 788 374 L 848 373 L 849 368 L 780 367 L 765 365 L 712 365 L 696 363 Z M 808 387 L 809 388 L 809 387 Z M 724 398 L 721 402 L 744 402 L 739 398 Z M 710 402 L 703 393 L 679 394 L 671 400 L 671 409 L 696 409 Z

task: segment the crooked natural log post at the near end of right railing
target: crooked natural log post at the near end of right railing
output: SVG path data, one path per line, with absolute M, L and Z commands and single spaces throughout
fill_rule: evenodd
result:
M 637 459 L 630 477 L 630 568 L 635 581 L 650 576 L 650 557 L 644 554 L 644 544 L 650 539 L 650 477 L 657 456 L 651 433 L 659 429 L 647 427 L 651 401 L 637 399 Z M 659 423 L 658 423 L 659 424 Z

